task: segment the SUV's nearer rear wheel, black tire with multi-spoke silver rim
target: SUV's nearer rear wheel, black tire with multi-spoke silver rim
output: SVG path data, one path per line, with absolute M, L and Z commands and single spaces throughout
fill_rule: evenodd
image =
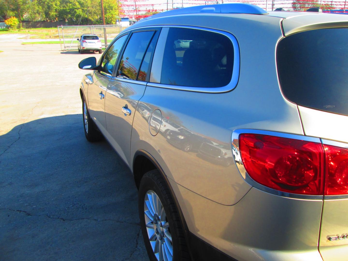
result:
M 157 169 L 142 177 L 138 207 L 150 260 L 163 261 L 164 255 L 168 260 L 190 260 L 179 211 L 166 181 Z

